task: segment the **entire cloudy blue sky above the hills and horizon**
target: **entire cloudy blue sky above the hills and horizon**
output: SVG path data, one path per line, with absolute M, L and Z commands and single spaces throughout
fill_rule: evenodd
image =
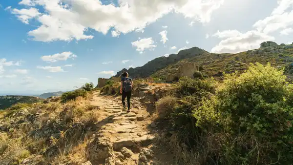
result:
M 293 0 L 0 0 L 0 93 L 97 84 L 193 46 L 291 43 L 292 9 Z

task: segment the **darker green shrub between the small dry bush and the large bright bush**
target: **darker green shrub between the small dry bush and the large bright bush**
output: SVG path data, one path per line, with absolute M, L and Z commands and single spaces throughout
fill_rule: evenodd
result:
M 196 127 L 192 111 L 204 98 L 209 98 L 215 93 L 215 82 L 184 77 L 173 87 L 173 95 L 178 98 L 178 104 L 170 114 L 169 125 L 171 129 L 178 130 L 177 138 L 181 142 L 189 146 L 195 145 L 198 143 L 196 140 L 201 129 Z

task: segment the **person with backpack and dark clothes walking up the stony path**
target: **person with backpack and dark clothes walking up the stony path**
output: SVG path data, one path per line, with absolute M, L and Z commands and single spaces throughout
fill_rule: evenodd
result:
M 130 97 L 132 94 L 133 89 L 133 82 L 132 79 L 128 77 L 127 72 L 123 72 L 121 76 L 121 86 L 120 86 L 120 93 L 122 93 L 122 104 L 123 110 L 126 108 L 125 98 L 127 98 L 127 112 L 130 112 Z

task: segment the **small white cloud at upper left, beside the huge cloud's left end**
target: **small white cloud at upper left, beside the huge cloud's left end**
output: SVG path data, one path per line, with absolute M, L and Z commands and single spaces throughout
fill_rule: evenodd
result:
M 29 9 L 21 9 L 21 10 L 13 9 L 11 13 L 17 15 L 18 19 L 25 24 L 28 24 L 28 21 L 30 19 L 33 19 L 41 14 L 39 13 L 38 9 L 33 7 Z

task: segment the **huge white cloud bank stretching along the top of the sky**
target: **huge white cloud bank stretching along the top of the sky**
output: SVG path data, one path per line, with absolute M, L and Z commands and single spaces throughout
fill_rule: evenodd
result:
M 38 5 L 44 12 L 37 17 L 39 27 L 28 32 L 36 41 L 71 41 L 92 39 L 84 33 L 90 28 L 106 34 L 109 29 L 119 33 L 143 31 L 146 25 L 170 12 L 206 23 L 224 0 L 118 0 L 115 4 L 103 4 L 100 0 L 22 0 L 20 4 Z M 69 5 L 68 5 L 69 4 Z M 42 11 L 42 8 L 40 11 Z M 19 13 L 21 14 L 21 13 Z M 35 15 L 33 15 L 35 17 Z M 23 22 L 28 17 L 19 15 Z M 116 36 L 116 35 L 114 35 Z

